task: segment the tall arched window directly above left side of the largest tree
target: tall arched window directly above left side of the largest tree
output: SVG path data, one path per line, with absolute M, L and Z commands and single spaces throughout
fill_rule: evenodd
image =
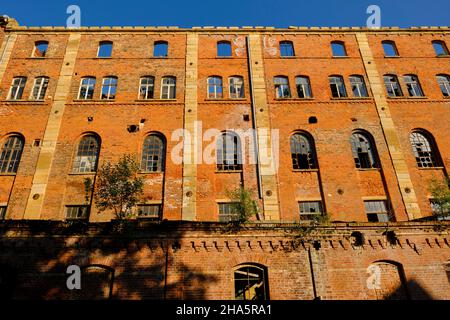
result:
M 85 135 L 78 143 L 77 152 L 73 160 L 72 172 L 95 172 L 97 170 L 100 143 L 97 136 Z

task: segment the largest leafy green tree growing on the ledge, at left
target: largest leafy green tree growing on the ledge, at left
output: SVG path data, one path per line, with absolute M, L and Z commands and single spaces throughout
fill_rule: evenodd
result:
M 116 164 L 103 163 L 98 171 L 95 204 L 100 212 L 114 210 L 117 219 L 129 218 L 143 194 L 144 181 L 137 176 L 135 157 L 124 155 Z

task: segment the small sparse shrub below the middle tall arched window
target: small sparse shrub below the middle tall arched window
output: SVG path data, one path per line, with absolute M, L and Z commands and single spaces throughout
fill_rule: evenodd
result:
M 231 211 L 237 216 L 238 222 L 247 222 L 252 216 L 258 217 L 259 207 L 253 200 L 251 190 L 241 186 L 235 190 L 227 190 L 226 194 L 232 200 Z

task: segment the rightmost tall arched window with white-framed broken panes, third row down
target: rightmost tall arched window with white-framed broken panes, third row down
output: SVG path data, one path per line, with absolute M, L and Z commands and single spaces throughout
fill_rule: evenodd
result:
M 438 150 L 430 134 L 414 131 L 410 135 L 410 141 L 419 168 L 433 168 L 440 165 Z

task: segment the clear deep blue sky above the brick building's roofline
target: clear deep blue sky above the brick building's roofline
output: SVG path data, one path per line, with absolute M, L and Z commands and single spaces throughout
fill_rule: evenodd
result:
M 450 25 L 449 0 L 0 0 L 0 14 L 63 26 L 70 4 L 82 26 L 364 26 L 370 4 L 381 7 L 383 26 Z

